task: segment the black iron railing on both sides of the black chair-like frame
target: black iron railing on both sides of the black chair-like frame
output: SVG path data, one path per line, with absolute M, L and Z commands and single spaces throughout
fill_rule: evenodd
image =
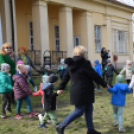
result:
M 61 59 L 67 58 L 66 51 L 50 51 L 51 64 L 59 64 Z M 41 51 L 40 50 L 28 50 L 27 54 L 32 58 L 35 65 L 41 65 Z

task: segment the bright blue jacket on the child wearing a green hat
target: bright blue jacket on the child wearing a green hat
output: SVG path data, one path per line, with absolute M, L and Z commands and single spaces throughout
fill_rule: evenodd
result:
M 124 106 L 126 94 L 132 92 L 126 83 L 117 83 L 113 86 L 113 88 L 110 87 L 108 91 L 112 93 L 111 104 L 116 106 Z

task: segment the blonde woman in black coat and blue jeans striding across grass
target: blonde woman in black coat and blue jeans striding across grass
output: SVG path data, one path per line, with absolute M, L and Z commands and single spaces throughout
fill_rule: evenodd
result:
M 75 105 L 75 110 L 70 113 L 60 125 L 56 126 L 58 134 L 64 134 L 65 127 L 85 113 L 88 127 L 87 134 L 101 134 L 95 131 L 93 126 L 94 84 L 93 81 L 107 87 L 107 83 L 94 71 L 90 61 L 86 60 L 86 49 L 77 46 L 74 49 L 73 58 L 67 58 L 67 71 L 59 85 L 58 94 L 63 92 L 66 84 L 71 80 L 70 102 Z

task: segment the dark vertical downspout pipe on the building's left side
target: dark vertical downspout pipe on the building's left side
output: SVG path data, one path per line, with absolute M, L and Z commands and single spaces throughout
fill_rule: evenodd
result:
M 12 25 L 12 47 L 13 51 L 15 52 L 15 44 L 14 44 L 14 19 L 13 19 L 13 1 L 10 1 L 10 10 L 11 10 L 11 25 Z

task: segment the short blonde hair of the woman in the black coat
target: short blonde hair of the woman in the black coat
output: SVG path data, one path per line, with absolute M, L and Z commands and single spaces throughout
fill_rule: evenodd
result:
M 84 57 L 86 58 L 86 54 L 87 54 L 87 51 L 86 51 L 86 48 L 84 46 L 76 46 L 74 48 L 74 51 L 73 51 L 73 56 L 81 56 L 81 57 Z

